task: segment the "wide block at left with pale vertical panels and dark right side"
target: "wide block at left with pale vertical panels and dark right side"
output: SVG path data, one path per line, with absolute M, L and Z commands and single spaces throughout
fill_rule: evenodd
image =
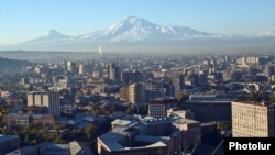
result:
M 31 91 L 26 95 L 28 107 L 47 107 L 48 113 L 61 117 L 61 98 L 57 91 Z

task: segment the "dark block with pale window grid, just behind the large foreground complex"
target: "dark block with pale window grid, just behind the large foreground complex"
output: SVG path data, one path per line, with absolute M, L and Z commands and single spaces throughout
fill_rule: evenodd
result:
M 156 119 L 166 118 L 167 110 L 176 107 L 176 98 L 154 98 L 148 101 L 148 115 Z

